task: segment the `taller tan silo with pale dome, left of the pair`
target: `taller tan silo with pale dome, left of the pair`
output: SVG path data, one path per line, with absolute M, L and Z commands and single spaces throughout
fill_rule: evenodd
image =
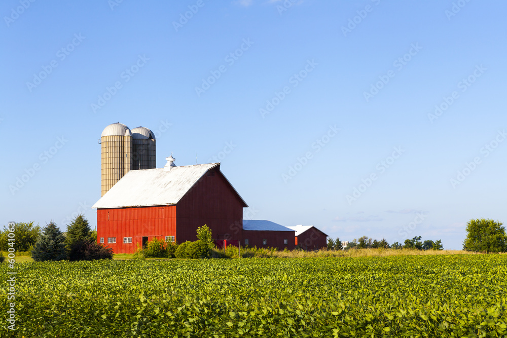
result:
M 102 196 L 132 169 L 132 132 L 121 123 L 105 127 L 102 144 Z

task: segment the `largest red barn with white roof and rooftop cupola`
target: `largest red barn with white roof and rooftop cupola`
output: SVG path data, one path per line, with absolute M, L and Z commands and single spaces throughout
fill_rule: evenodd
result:
M 220 171 L 220 163 L 131 170 L 92 208 L 97 242 L 114 253 L 133 253 L 154 238 L 195 241 L 207 224 L 215 240 L 241 243 L 248 207 Z

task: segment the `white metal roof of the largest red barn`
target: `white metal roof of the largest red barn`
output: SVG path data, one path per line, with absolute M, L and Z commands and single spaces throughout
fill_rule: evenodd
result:
M 171 170 L 130 170 L 92 208 L 174 205 L 208 170 L 215 167 L 220 170 L 220 163 L 172 167 Z M 239 194 L 238 197 L 241 199 Z M 246 205 L 243 199 L 241 201 Z

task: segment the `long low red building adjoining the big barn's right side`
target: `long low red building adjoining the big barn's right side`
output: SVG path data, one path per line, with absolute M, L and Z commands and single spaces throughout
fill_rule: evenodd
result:
M 243 220 L 243 243 L 258 248 L 295 248 L 295 231 L 269 220 Z

